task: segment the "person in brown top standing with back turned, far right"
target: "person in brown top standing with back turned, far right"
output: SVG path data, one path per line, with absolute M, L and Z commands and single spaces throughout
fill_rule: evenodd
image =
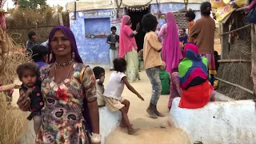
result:
M 211 76 L 210 83 L 214 85 L 214 75 L 217 74 L 214 63 L 215 22 L 214 19 L 210 17 L 210 2 L 202 2 L 200 10 L 202 18 L 198 19 L 191 28 L 190 39 L 195 38 L 199 54 L 208 59 L 208 69 Z

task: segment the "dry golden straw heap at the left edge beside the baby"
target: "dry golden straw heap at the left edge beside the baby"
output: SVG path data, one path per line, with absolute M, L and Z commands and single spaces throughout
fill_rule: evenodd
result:
M 0 83 L 2 85 L 14 82 L 17 78 L 16 68 L 19 64 L 30 61 L 22 54 L 22 46 L 15 45 L 6 32 L 0 29 Z M 8 105 L 6 93 L 0 92 L 0 143 L 17 143 L 26 126 L 26 114 Z

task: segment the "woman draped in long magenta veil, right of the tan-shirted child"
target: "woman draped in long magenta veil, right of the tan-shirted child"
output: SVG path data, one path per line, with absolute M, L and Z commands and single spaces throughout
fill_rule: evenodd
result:
M 172 12 L 166 13 L 166 24 L 162 26 L 158 37 L 162 40 L 162 61 L 166 62 L 166 71 L 170 74 L 178 67 L 182 53 L 178 39 L 178 26 Z

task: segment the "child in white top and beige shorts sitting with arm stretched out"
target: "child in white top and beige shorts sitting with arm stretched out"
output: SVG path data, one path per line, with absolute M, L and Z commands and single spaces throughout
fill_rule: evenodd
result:
M 144 101 L 144 98 L 136 90 L 134 90 L 133 86 L 130 86 L 126 78 L 126 60 L 124 58 L 115 58 L 114 59 L 114 72 L 110 75 L 110 80 L 106 85 L 106 89 L 104 91 L 104 100 L 106 102 L 106 106 L 109 107 L 111 112 L 116 110 L 120 110 L 122 113 L 122 122 L 121 126 L 126 126 L 128 130 L 128 134 L 134 134 L 139 129 L 134 129 L 129 122 L 128 118 L 128 110 L 130 106 L 130 102 L 124 98 L 122 98 L 122 91 L 124 89 L 124 85 L 127 88 L 136 94 L 138 98 Z

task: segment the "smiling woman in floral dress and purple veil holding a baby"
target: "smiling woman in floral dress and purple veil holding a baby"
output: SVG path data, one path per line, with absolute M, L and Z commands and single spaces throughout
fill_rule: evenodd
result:
M 55 26 L 48 45 L 50 65 L 41 70 L 45 107 L 36 143 L 99 144 L 94 73 L 82 64 L 74 34 L 66 26 Z M 30 99 L 21 95 L 18 106 L 23 111 L 29 110 Z M 85 116 L 83 109 L 88 112 Z M 90 124 L 91 134 L 86 133 L 86 123 Z

